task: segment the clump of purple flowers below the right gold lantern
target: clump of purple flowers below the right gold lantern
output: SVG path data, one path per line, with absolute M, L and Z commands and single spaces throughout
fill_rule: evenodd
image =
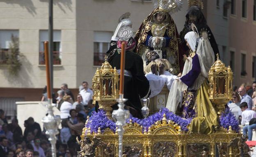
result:
M 235 115 L 227 108 L 224 113 L 219 118 L 220 126 L 223 128 L 229 129 L 231 126 L 232 130 L 239 132 L 240 127 L 238 123 L 238 119 L 236 119 Z

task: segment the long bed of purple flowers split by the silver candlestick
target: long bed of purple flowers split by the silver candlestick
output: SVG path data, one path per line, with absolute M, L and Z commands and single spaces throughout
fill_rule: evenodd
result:
M 191 119 L 183 119 L 182 117 L 175 115 L 174 113 L 170 112 L 167 108 L 162 108 L 158 113 L 155 113 L 145 119 L 139 119 L 136 117 L 130 116 L 130 119 L 132 119 L 132 123 L 137 123 L 140 126 L 143 127 L 143 130 L 148 130 L 149 126 L 152 126 L 155 124 L 155 122 L 162 120 L 163 115 L 166 115 L 166 119 L 171 120 L 181 126 L 181 130 L 188 131 L 188 124 L 190 124 Z M 129 123 L 129 120 L 127 119 L 126 122 Z M 91 117 L 89 118 L 88 123 L 86 124 L 87 128 L 91 128 L 92 132 L 97 132 L 98 128 L 101 128 L 101 132 L 103 133 L 106 128 L 110 128 L 112 131 L 116 131 L 116 124 L 107 117 L 105 111 L 99 110 L 98 112 L 93 112 Z

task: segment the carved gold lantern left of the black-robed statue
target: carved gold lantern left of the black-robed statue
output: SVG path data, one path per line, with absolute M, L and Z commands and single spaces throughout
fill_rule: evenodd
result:
M 92 79 L 92 88 L 94 89 L 93 104 L 96 101 L 99 108 L 107 112 L 107 117 L 111 118 L 111 106 L 116 104 L 119 97 L 119 74 L 117 70 L 107 62 L 102 64 L 101 69 L 97 69 Z

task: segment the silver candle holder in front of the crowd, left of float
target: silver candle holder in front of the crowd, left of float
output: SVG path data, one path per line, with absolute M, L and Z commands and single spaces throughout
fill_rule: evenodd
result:
M 56 157 L 56 135 L 59 133 L 58 131 L 58 126 L 60 124 L 60 117 L 59 116 L 54 116 L 53 115 L 53 107 L 55 104 L 53 104 L 52 99 L 48 99 L 48 104 L 47 104 L 47 114 L 45 117 L 43 117 L 42 122 L 43 122 L 43 127 L 46 129 L 46 135 L 49 135 L 48 140 L 50 141 L 51 144 L 51 150 L 52 150 L 52 157 Z

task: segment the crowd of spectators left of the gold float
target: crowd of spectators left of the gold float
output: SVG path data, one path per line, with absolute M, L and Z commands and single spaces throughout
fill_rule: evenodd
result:
M 80 150 L 75 138 L 82 134 L 87 116 L 95 110 L 91 99 L 93 92 L 87 82 L 82 82 L 76 97 L 67 84 L 62 84 L 57 94 L 56 105 L 62 119 L 57 135 L 57 157 L 75 157 Z M 47 101 L 46 88 L 41 101 Z M 16 118 L 8 124 L 5 111 L 0 109 L 0 157 L 52 157 L 46 130 L 34 122 L 33 117 L 24 121 L 24 127 L 23 132 Z

